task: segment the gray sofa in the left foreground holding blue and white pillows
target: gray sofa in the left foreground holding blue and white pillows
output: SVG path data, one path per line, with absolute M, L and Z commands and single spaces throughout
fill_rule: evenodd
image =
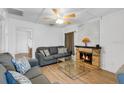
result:
M 12 64 L 12 56 L 9 53 L 0 54 L 0 84 L 6 84 L 4 73 L 6 70 L 16 71 Z M 31 80 L 33 84 L 50 84 L 50 81 L 42 74 L 38 63 L 35 60 L 29 60 L 31 69 L 25 73 L 25 76 Z

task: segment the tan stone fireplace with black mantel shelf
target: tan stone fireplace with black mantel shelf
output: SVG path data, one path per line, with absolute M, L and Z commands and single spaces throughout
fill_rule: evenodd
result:
M 89 64 L 85 60 L 85 56 L 87 57 L 88 54 L 92 56 L 89 57 L 91 59 L 91 63 L 89 64 L 90 66 L 94 66 L 97 68 L 100 68 L 100 51 L 101 47 L 93 47 L 93 46 L 75 46 L 76 47 L 76 60 L 80 60 L 82 62 L 85 62 L 86 64 Z M 83 58 L 81 59 L 81 55 L 83 54 Z

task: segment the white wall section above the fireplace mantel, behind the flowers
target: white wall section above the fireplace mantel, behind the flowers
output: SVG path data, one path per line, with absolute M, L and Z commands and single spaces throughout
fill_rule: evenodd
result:
M 89 37 L 91 40 L 88 46 L 96 46 L 96 44 L 100 43 L 100 22 L 98 20 L 82 26 L 74 25 L 66 27 L 63 32 L 74 32 L 74 44 L 78 46 L 84 46 L 82 38 L 85 36 Z

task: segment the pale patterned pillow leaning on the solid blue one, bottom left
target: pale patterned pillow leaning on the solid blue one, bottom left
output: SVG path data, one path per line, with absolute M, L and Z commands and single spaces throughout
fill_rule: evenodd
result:
M 9 71 L 12 76 L 14 77 L 14 79 L 20 83 L 20 84 L 32 84 L 31 81 L 24 75 L 16 72 L 16 71 Z

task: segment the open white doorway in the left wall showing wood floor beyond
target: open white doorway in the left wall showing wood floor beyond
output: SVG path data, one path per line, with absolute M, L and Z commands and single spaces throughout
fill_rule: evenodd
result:
M 16 55 L 32 57 L 32 31 L 26 28 L 16 29 Z

